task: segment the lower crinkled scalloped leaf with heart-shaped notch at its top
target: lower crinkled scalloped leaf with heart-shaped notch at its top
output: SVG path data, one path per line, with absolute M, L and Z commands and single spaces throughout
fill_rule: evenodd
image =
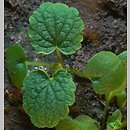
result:
M 68 106 L 75 101 L 76 87 L 65 70 L 57 71 L 52 78 L 41 70 L 32 71 L 23 86 L 23 107 L 39 128 L 56 126 L 68 116 Z

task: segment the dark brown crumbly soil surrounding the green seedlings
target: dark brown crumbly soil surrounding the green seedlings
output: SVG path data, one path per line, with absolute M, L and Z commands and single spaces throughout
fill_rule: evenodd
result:
M 36 54 L 27 36 L 28 18 L 43 1 L 66 3 L 77 8 L 85 23 L 82 48 L 71 56 L 63 56 L 66 66 L 83 70 L 87 61 L 99 51 L 109 50 L 119 54 L 127 50 L 126 0 L 5 0 L 5 52 L 10 45 L 16 43 L 25 49 L 28 60 L 47 62 L 57 60 L 54 53 L 47 56 Z M 30 67 L 29 70 L 33 68 L 37 67 Z M 42 69 L 48 70 L 45 67 Z M 77 90 L 76 102 L 70 107 L 70 116 L 87 114 L 97 121 L 101 121 L 104 113 L 104 96 L 97 95 L 93 91 L 89 80 L 76 75 L 73 75 L 73 77 Z M 24 112 L 21 91 L 11 85 L 6 68 L 4 82 L 4 130 L 39 130 L 31 123 L 28 115 Z M 113 99 L 109 113 L 111 114 L 116 108 L 118 106 L 116 100 Z M 126 118 L 126 111 L 127 108 L 125 107 L 124 118 Z

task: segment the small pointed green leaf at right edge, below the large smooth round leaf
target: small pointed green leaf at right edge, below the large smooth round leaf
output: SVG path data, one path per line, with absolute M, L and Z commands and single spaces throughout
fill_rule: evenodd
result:
M 117 104 L 120 107 L 120 110 L 122 111 L 123 107 L 126 104 L 127 101 L 127 94 L 125 91 L 122 91 L 121 93 L 116 95 L 116 99 L 117 99 Z

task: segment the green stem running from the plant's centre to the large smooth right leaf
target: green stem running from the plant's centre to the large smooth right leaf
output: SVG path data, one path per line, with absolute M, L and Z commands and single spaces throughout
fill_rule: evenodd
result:
M 70 67 L 64 67 L 64 69 L 66 69 L 67 71 L 73 72 L 74 74 L 76 74 L 80 77 L 88 78 L 88 75 L 86 73 L 83 73 L 83 72 L 78 71 L 76 69 L 73 69 L 73 68 L 70 68 Z

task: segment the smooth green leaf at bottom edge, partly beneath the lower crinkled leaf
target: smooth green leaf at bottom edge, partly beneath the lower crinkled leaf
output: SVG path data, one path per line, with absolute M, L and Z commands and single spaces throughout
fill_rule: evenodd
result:
M 80 115 L 75 119 L 67 117 L 55 127 L 56 130 L 99 130 L 99 123 L 87 115 Z

